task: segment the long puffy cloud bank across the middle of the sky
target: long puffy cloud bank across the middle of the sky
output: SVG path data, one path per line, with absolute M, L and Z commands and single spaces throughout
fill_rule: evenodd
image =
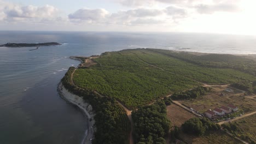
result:
M 69 14 L 72 22 L 78 23 L 106 23 L 115 25 L 150 25 L 168 23 L 187 15 L 182 8 L 167 7 L 165 9 L 138 8 L 117 13 L 109 13 L 105 9 L 83 8 Z

